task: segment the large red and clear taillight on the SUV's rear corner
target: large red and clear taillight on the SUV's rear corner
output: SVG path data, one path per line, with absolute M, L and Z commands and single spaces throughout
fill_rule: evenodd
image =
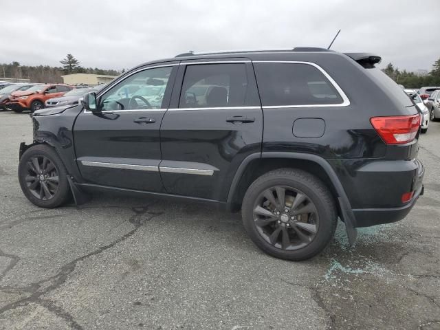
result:
M 420 115 L 373 117 L 370 122 L 386 144 L 404 144 L 415 139 L 420 127 Z

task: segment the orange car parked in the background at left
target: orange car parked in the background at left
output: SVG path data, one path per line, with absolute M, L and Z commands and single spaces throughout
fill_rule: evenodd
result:
M 23 110 L 34 112 L 43 109 L 46 100 L 63 96 L 72 89 L 73 87 L 67 85 L 36 85 L 26 91 L 14 91 L 5 107 L 15 112 Z

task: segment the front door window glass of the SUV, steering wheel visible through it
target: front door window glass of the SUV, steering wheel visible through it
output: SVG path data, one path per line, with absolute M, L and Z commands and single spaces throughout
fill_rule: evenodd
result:
M 100 109 L 162 109 L 172 69 L 173 67 L 157 67 L 129 76 L 102 96 Z

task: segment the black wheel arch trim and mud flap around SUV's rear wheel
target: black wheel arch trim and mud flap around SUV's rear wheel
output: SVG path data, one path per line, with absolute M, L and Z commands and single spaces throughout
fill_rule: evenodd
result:
M 307 153 L 263 152 L 246 157 L 232 179 L 228 192 L 226 207 L 228 210 L 238 210 L 243 201 L 245 191 L 259 176 L 276 168 L 300 168 L 316 175 L 324 181 L 333 195 L 338 215 L 344 221 L 350 243 L 356 239 L 355 217 L 351 204 L 338 176 L 330 164 L 322 157 Z

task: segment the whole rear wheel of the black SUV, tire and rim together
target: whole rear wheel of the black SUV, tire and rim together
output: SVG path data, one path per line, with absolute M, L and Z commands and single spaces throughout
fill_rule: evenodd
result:
M 276 210 L 279 207 L 274 210 L 272 207 L 275 204 L 270 203 L 270 200 L 266 197 L 261 197 L 262 194 L 266 196 L 267 191 L 270 191 L 270 195 L 274 197 L 272 193 L 274 191 L 276 197 L 272 201 L 278 202 L 278 188 L 281 189 L 279 195 L 285 195 L 283 206 L 285 210 L 281 210 L 281 215 L 276 215 L 276 212 L 278 212 Z M 283 188 L 285 188 L 284 193 L 282 192 Z M 293 196 L 293 194 L 296 195 Z M 295 199 L 297 197 L 299 206 L 296 205 L 295 208 Z M 301 200 L 305 201 L 301 203 Z M 267 206 L 267 203 L 269 203 L 269 206 Z M 292 213 L 295 213 L 295 210 L 306 210 L 309 207 L 309 203 L 314 204 L 310 206 L 310 208 L 314 206 L 314 213 L 300 214 L 292 217 Z M 281 205 L 282 203 L 278 204 L 278 206 Z M 272 215 L 270 217 L 262 216 L 260 207 L 274 211 L 271 212 Z M 291 209 L 289 210 L 290 207 Z M 258 210 L 258 214 L 256 214 L 256 210 Z M 287 210 L 289 212 L 286 212 Z M 243 225 L 250 239 L 263 252 L 278 259 L 289 261 L 310 259 L 324 250 L 336 230 L 336 206 L 329 188 L 314 175 L 294 168 L 272 170 L 256 179 L 245 193 L 241 212 Z M 277 218 L 274 218 L 274 216 Z M 285 222 L 286 217 L 287 223 Z M 293 220 L 295 217 L 296 219 Z M 273 219 L 276 219 L 276 221 Z M 306 219 L 306 224 L 303 222 L 304 219 Z M 262 227 L 262 224 L 268 221 L 270 223 Z M 278 230 L 279 226 L 282 227 L 281 234 L 278 236 L 278 240 L 281 242 L 272 243 L 272 236 L 276 236 L 276 230 Z M 309 229 L 305 231 L 305 226 L 309 229 L 314 229 L 314 234 L 309 232 Z M 284 244 L 285 232 L 287 232 L 287 242 L 290 242 L 291 245 Z M 305 236 L 307 236 L 305 234 L 309 235 L 307 239 L 305 239 Z M 303 241 L 300 238 L 305 240 Z

